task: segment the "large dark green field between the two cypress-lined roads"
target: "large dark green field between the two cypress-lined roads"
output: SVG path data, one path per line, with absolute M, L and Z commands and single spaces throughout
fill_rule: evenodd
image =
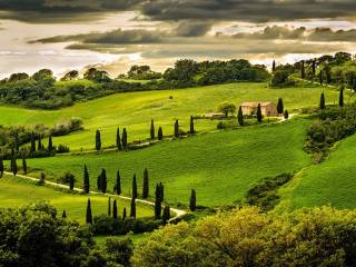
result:
M 145 168 L 150 174 L 150 192 L 156 182 L 166 186 L 166 199 L 187 204 L 190 190 L 197 190 L 198 205 L 229 205 L 245 197 L 254 182 L 309 164 L 303 151 L 306 127 L 310 121 L 295 119 L 286 123 L 248 127 L 199 135 L 129 151 L 29 159 L 32 169 L 46 170 L 55 179 L 71 171 L 81 182 L 83 165 L 89 168 L 91 186 L 106 168 L 112 188 L 120 169 L 122 189 L 130 195 L 132 175 L 138 175 L 139 191 Z

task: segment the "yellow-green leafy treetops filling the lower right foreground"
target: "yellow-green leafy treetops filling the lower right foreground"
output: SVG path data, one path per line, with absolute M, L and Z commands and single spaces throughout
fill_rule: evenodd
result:
M 155 231 L 136 266 L 355 266 L 356 211 L 330 207 L 286 215 L 236 209 Z

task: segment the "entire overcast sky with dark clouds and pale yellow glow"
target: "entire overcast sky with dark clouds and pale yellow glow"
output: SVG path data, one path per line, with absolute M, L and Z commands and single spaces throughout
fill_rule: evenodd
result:
M 355 0 L 0 0 L 0 77 L 356 53 Z

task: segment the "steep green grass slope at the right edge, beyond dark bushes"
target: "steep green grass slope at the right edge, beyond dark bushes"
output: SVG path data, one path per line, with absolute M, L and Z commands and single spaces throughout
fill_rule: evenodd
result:
M 329 158 L 303 170 L 280 190 L 277 210 L 332 205 L 356 208 L 356 136 L 339 142 Z

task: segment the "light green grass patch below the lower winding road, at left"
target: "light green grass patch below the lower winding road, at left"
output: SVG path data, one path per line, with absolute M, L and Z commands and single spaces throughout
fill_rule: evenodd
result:
M 85 222 L 86 208 L 89 196 L 70 195 L 49 187 L 40 187 L 32 181 L 6 176 L 0 179 L 0 208 L 17 208 L 31 202 L 48 201 L 53 205 L 61 216 L 63 209 L 69 219 Z M 108 198 L 90 196 L 92 215 L 107 214 Z M 113 200 L 113 199 L 112 199 Z M 117 199 L 119 215 L 123 207 L 130 210 L 130 202 Z M 149 206 L 137 205 L 138 217 L 151 217 L 154 210 Z

